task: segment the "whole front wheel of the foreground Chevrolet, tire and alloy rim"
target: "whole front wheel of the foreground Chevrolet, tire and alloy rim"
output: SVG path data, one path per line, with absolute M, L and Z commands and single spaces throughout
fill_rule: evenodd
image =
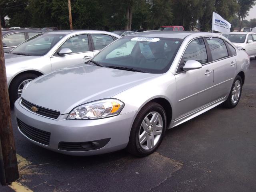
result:
M 128 152 L 147 156 L 161 144 L 166 130 L 166 113 L 155 102 L 146 104 L 136 116 L 130 132 Z

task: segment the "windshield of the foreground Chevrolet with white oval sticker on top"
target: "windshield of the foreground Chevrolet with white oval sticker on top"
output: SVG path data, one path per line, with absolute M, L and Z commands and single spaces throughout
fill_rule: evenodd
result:
M 102 66 L 128 67 L 146 73 L 165 73 L 182 39 L 123 37 L 99 52 L 93 60 Z

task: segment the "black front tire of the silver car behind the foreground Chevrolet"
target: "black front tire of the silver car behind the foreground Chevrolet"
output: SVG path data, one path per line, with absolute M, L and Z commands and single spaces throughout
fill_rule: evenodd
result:
M 24 73 L 16 76 L 9 87 L 9 98 L 10 98 L 10 106 L 13 107 L 14 102 L 19 98 L 18 97 L 18 86 L 25 80 L 35 79 L 38 75 L 32 73 Z

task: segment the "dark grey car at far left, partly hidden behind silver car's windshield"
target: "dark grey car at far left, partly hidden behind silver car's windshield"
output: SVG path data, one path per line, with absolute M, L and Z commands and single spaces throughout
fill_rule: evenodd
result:
M 15 29 L 15 30 L 3 30 L 2 31 L 2 39 L 4 52 L 7 53 L 22 42 L 27 39 L 37 35 L 44 33 L 42 30 L 33 30 L 33 29 Z

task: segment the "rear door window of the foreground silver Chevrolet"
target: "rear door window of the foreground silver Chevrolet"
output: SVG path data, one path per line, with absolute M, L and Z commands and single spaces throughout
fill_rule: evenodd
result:
M 207 39 L 207 43 L 209 44 L 213 61 L 224 58 L 224 57 L 228 57 L 228 50 L 222 39 L 220 38 Z

